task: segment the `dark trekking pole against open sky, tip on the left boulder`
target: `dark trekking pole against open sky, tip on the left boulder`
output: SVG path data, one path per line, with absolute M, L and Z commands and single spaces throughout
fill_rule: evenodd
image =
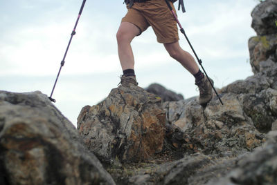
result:
M 69 51 L 69 46 L 70 46 L 70 44 L 71 44 L 71 40 L 72 40 L 73 36 L 76 34 L 75 30 L 76 30 L 78 21 L 79 21 L 79 19 L 80 19 L 80 17 L 81 17 L 82 9 L 84 8 L 84 3 L 86 3 L 86 1 L 87 1 L 87 0 L 83 0 L 83 1 L 82 1 L 82 6 L 81 6 L 81 8 L 80 8 L 80 11 L 79 11 L 79 14 L 78 14 L 78 18 L 77 18 L 77 20 L 76 20 L 76 23 L 75 23 L 75 26 L 74 26 L 74 28 L 73 28 L 73 31 L 71 32 L 71 37 L 70 37 L 70 39 L 69 39 L 69 44 L 67 45 L 66 51 L 65 51 L 65 53 L 64 53 L 64 58 L 62 59 L 61 64 L 60 64 L 60 70 L 59 70 L 59 72 L 57 73 L 57 78 L 56 78 L 56 80 L 55 80 L 55 84 L 54 84 L 54 86 L 53 86 L 51 95 L 50 95 L 50 97 L 48 97 L 48 99 L 50 99 L 50 101 L 53 101 L 54 103 L 56 102 L 56 100 L 53 99 L 52 96 L 53 96 L 53 93 L 54 93 L 54 90 L 55 90 L 55 86 L 56 86 L 56 84 L 57 84 L 57 79 L 58 79 L 59 76 L 60 76 L 60 72 L 61 72 L 61 70 L 62 70 L 62 66 L 64 66 L 64 63 L 65 63 L 64 59 L 65 59 L 65 57 L 66 57 L 67 52 Z

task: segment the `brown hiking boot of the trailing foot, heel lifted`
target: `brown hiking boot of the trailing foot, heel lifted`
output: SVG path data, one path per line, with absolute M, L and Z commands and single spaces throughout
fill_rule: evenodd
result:
M 212 84 L 213 80 L 210 78 Z M 210 81 L 208 81 L 208 78 L 204 76 L 204 78 L 200 81 L 195 81 L 195 85 L 199 88 L 199 104 L 201 106 L 206 106 L 208 104 L 208 101 L 211 101 L 213 97 L 213 87 L 210 84 Z

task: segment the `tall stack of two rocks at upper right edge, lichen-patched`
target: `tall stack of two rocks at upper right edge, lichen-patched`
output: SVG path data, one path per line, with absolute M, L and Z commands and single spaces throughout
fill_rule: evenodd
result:
M 277 61 L 277 2 L 267 0 L 260 3 L 251 13 L 252 28 L 256 37 L 249 39 L 250 63 L 254 73 L 260 72 L 262 61 Z

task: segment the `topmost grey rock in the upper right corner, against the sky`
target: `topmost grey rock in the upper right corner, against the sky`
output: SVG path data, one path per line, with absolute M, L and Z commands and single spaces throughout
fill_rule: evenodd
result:
M 267 0 L 261 2 L 251 12 L 252 28 L 258 35 L 270 35 L 277 33 L 277 2 Z

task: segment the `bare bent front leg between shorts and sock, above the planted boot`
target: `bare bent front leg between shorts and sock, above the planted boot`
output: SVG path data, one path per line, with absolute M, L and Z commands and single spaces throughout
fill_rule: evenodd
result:
M 118 57 L 122 70 L 134 69 L 134 55 L 131 41 L 140 34 L 140 30 L 134 24 L 122 22 L 116 33 L 118 44 Z

